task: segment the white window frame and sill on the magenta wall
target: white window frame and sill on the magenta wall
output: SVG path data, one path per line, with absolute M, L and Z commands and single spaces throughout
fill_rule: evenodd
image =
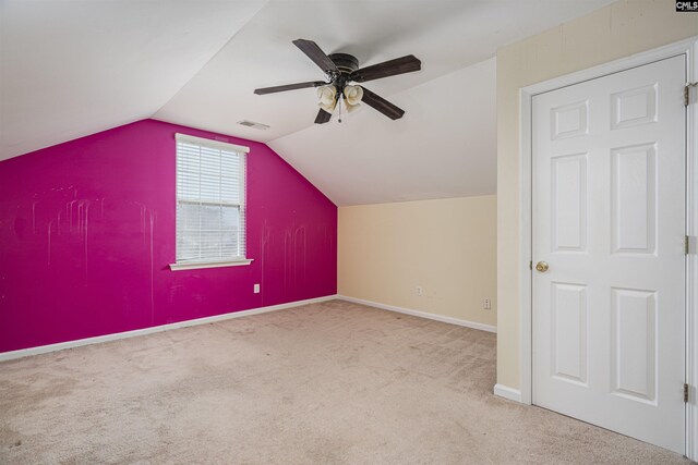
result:
M 203 137 L 191 136 L 188 134 L 174 134 L 174 157 L 176 157 L 176 187 L 174 187 L 174 203 L 176 209 L 179 208 L 180 204 L 191 204 L 191 205 L 210 205 L 210 206 L 226 206 L 226 207 L 237 207 L 239 209 L 239 217 L 241 218 L 241 228 L 240 234 L 238 235 L 238 249 L 242 248 L 242 255 L 232 257 L 231 259 L 202 259 L 202 260 L 179 260 L 178 259 L 178 244 L 179 244 L 179 232 L 180 229 L 178 227 L 178 215 L 176 215 L 176 227 L 174 227 L 174 262 L 170 264 L 170 269 L 172 271 L 177 270 L 189 270 L 189 269 L 201 269 L 201 268 L 220 268 L 220 267 L 237 267 L 237 266 L 246 266 L 250 265 L 253 260 L 246 257 L 246 167 L 248 167 L 248 155 L 250 154 L 250 147 L 229 144 L 221 140 L 214 140 Z M 188 199 L 179 197 L 179 182 L 180 182 L 180 171 L 179 171 L 179 144 L 185 143 L 191 145 L 196 145 L 198 147 L 205 147 L 214 150 L 225 150 L 225 151 L 234 151 L 241 157 L 241 173 L 238 173 L 240 176 L 240 201 L 238 203 L 229 203 L 229 201 L 202 201 L 202 199 Z M 242 242 L 242 244 L 241 244 Z

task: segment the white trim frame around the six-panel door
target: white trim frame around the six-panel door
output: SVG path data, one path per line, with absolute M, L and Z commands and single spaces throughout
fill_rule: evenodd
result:
M 533 96 L 579 84 L 676 56 L 685 56 L 688 82 L 698 81 L 698 36 L 633 54 L 610 63 L 522 87 L 519 90 L 519 367 L 520 402 L 532 403 L 532 99 Z M 696 90 L 694 90 L 694 94 Z M 686 234 L 698 235 L 698 97 L 686 111 Z M 698 255 L 686 258 L 686 382 L 691 387 L 686 404 L 685 455 L 698 461 Z M 676 387 L 678 390 L 681 387 Z

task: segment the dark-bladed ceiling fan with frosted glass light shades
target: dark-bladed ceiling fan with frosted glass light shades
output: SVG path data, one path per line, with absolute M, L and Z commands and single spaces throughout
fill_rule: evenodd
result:
M 323 124 L 332 118 L 332 111 L 338 106 L 339 100 L 344 100 L 345 107 L 351 111 L 359 101 L 363 101 L 370 107 L 378 110 L 392 120 L 402 118 L 405 110 L 390 103 L 383 97 L 372 93 L 363 86 L 351 85 L 350 83 L 365 83 L 366 81 L 380 79 L 404 73 L 411 73 L 422 69 L 422 62 L 414 56 L 396 58 L 366 68 L 359 68 L 359 60 L 348 53 L 325 54 L 322 49 L 312 40 L 297 39 L 293 45 L 301 49 L 321 70 L 325 73 L 325 81 L 310 81 L 306 83 L 287 84 L 284 86 L 263 87 L 255 89 L 257 95 L 274 94 L 285 90 L 296 90 L 306 87 L 320 87 L 320 112 L 315 118 L 315 123 Z M 341 111 L 341 103 L 339 103 Z M 339 120 L 341 122 L 341 119 Z

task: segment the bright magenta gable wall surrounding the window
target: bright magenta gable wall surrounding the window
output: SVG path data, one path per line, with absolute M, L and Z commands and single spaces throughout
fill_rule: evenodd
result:
M 252 265 L 168 268 L 178 132 L 251 148 Z M 0 162 L 0 352 L 336 289 L 337 207 L 264 144 L 145 120 Z

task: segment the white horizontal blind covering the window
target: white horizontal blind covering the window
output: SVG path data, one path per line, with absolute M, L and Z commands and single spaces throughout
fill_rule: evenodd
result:
M 245 259 L 249 148 L 177 134 L 177 262 Z

